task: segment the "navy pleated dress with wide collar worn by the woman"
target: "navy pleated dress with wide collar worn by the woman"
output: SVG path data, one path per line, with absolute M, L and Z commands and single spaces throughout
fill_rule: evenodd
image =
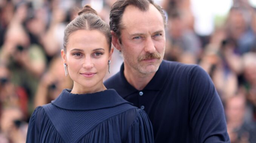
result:
M 153 143 L 145 111 L 108 89 L 72 94 L 65 89 L 37 107 L 29 121 L 27 143 Z

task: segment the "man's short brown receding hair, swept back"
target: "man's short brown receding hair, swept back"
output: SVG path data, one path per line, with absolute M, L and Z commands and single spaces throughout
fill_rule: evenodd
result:
M 120 31 L 123 28 L 121 20 L 126 6 L 133 5 L 136 8 L 139 8 L 141 11 L 148 11 L 150 4 L 154 5 L 154 7 L 160 12 L 163 17 L 164 26 L 166 27 L 167 23 L 165 13 L 163 12 L 162 7 L 155 4 L 153 0 L 118 0 L 114 3 L 110 11 L 109 26 L 110 29 L 116 33 L 116 36 L 119 38 L 120 43 Z

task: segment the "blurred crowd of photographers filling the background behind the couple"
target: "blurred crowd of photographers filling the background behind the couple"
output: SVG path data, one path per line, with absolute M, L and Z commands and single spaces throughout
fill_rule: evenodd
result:
M 25 143 L 35 107 L 64 88 L 66 24 L 90 4 L 109 23 L 116 0 L 0 0 L 0 143 Z M 224 105 L 232 143 L 256 143 L 256 0 L 155 0 L 167 14 L 166 60 L 198 64 Z M 114 51 L 111 74 L 122 57 Z

